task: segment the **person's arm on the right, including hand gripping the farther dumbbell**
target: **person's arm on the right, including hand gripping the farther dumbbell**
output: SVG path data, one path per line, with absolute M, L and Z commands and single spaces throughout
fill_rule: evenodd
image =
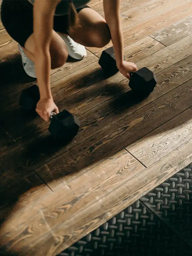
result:
M 130 79 L 130 72 L 137 71 L 137 66 L 123 59 L 123 32 L 120 19 L 120 1 L 121 0 L 103 0 L 104 14 L 111 33 L 111 41 L 113 43 L 117 67 L 125 77 Z

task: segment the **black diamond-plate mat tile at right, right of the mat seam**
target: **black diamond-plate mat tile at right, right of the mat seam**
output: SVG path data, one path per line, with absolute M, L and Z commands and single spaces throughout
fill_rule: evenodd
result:
M 141 201 L 192 245 L 192 164 L 142 197 Z

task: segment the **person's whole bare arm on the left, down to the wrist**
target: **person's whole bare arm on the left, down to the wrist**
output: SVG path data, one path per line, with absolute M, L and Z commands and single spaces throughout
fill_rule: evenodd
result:
M 60 0 L 35 0 L 33 8 L 33 33 L 35 37 L 35 71 L 41 99 L 52 98 L 50 88 L 53 16 Z

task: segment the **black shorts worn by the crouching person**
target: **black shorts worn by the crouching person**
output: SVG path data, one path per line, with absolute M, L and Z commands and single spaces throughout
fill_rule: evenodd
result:
M 87 8 L 84 6 L 83 8 Z M 76 9 L 77 12 L 83 8 Z M 27 0 L 3 0 L 1 22 L 7 33 L 22 47 L 33 33 L 33 5 Z M 68 15 L 54 16 L 53 29 L 68 34 Z

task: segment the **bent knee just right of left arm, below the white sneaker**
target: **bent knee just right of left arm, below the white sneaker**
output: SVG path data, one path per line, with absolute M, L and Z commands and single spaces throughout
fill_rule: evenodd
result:
M 68 52 L 66 49 L 58 52 L 51 53 L 51 69 L 62 67 L 68 58 Z

